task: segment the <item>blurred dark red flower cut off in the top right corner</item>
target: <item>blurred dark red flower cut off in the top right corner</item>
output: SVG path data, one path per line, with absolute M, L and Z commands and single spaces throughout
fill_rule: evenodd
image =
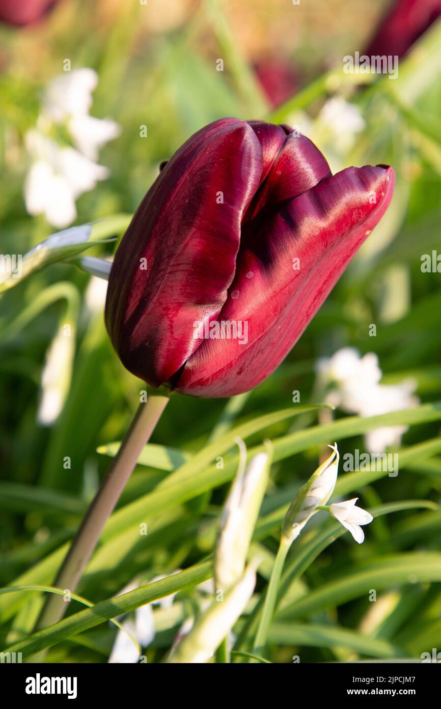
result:
M 440 15 L 441 0 L 398 0 L 364 53 L 401 57 Z

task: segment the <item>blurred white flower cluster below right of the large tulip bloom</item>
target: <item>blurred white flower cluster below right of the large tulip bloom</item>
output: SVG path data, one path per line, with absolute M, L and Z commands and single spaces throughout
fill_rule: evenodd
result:
M 382 370 L 374 352 L 360 356 L 353 347 L 343 347 L 332 357 L 319 359 L 316 366 L 319 386 L 329 389 L 326 401 L 343 411 L 359 416 L 376 416 L 418 406 L 413 396 L 416 381 L 405 379 L 399 384 L 379 384 Z M 386 426 L 365 435 L 366 449 L 382 453 L 387 447 L 398 446 L 407 426 Z

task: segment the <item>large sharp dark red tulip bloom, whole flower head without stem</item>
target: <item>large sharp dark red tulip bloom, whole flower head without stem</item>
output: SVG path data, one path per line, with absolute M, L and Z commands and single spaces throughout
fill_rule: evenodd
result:
M 144 197 L 110 272 L 105 319 L 151 386 L 231 396 L 269 376 L 382 218 L 394 170 L 331 176 L 287 125 L 223 118 Z

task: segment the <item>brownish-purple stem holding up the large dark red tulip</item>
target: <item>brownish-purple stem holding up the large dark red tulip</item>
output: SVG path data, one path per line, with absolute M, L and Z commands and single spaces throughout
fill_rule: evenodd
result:
M 71 543 L 69 552 L 57 574 L 54 586 L 73 592 L 88 560 L 93 554 L 103 527 L 112 514 L 120 494 L 137 464 L 145 443 L 158 423 L 168 403 L 167 396 L 149 396 L 147 403 L 139 404 L 120 450 L 113 459 L 84 520 Z M 60 596 L 50 596 L 38 620 L 38 629 L 57 623 L 64 615 L 67 603 Z

